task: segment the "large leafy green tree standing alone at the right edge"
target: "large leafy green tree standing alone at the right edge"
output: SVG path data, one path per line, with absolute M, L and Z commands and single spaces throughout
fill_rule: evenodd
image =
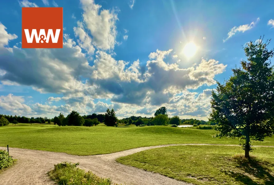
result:
M 216 137 L 239 138 L 245 157 L 252 151 L 252 140 L 263 141 L 273 134 L 274 70 L 273 50 L 266 43 L 250 42 L 244 47 L 247 61 L 224 84 L 212 91 L 210 121 L 217 122 Z

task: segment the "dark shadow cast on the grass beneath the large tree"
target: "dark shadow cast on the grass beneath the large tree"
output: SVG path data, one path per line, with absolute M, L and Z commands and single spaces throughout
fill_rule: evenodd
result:
M 268 167 L 273 167 L 274 165 L 261 161 L 255 157 L 250 157 L 249 159 L 244 158 L 243 156 L 237 155 L 234 157 L 237 164 L 237 169 L 244 171 L 244 173 L 239 173 L 235 171 L 225 172 L 226 175 L 231 176 L 236 181 L 240 181 L 243 184 L 248 185 L 273 185 L 274 184 L 274 176 L 271 174 L 271 170 Z M 260 182 L 255 182 L 251 177 L 255 177 L 260 180 Z

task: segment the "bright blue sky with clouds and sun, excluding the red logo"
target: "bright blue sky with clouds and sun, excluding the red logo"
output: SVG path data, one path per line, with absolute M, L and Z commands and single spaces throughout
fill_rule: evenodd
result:
M 273 1 L 0 2 L 0 114 L 104 113 L 207 120 L 216 80 L 273 38 Z M 23 49 L 22 7 L 63 7 L 63 48 Z M 273 48 L 273 43 L 270 43 Z

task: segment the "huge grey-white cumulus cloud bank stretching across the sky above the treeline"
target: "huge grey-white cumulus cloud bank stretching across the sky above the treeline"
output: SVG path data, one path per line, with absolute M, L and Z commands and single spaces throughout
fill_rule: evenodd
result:
M 26 85 L 41 93 L 62 95 L 49 97 L 47 104 L 27 106 L 25 109 L 30 114 L 57 115 L 71 110 L 81 114 L 103 113 L 106 108 L 115 108 L 119 116 L 150 115 L 160 105 L 166 105 L 170 115 L 203 117 L 207 113 L 209 102 L 204 101 L 208 99 L 209 90 L 198 94 L 188 89 L 215 84 L 215 76 L 222 73 L 226 65 L 211 59 L 180 68 L 176 63 L 169 64 L 167 56 L 172 49 L 151 52 L 146 64 L 140 64 L 139 60 L 131 63 L 116 60 L 107 51 L 95 52 L 94 37 L 85 30 L 84 22 L 74 27 L 77 43 L 64 34 L 63 49 L 22 49 L 7 47 L 17 36 L 7 33 L 6 27 L 0 25 L 0 80 L 6 85 Z M 95 53 L 92 62 L 81 48 Z M 17 100 L 24 107 L 20 98 Z M 2 99 L 6 102 L 8 98 Z M 94 99 L 109 99 L 111 103 L 94 103 Z M 4 105 L 1 104 L 2 109 L 13 111 Z

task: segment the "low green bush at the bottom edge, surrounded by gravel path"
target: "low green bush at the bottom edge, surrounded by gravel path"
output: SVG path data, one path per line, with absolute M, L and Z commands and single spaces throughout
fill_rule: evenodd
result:
M 111 179 L 100 178 L 92 172 L 85 172 L 77 168 L 79 163 L 63 162 L 54 165 L 54 170 L 49 172 L 51 179 L 60 185 L 117 185 Z

